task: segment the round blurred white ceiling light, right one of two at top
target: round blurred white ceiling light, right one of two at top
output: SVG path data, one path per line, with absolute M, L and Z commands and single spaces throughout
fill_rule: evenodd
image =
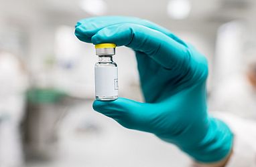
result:
M 172 19 L 186 19 L 190 15 L 191 3 L 189 0 L 170 0 L 167 12 Z

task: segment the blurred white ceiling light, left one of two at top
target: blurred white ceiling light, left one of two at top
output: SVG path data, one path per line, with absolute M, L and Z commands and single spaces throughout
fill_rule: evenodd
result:
M 80 7 L 90 15 L 103 15 L 107 12 L 107 3 L 103 0 L 84 0 Z

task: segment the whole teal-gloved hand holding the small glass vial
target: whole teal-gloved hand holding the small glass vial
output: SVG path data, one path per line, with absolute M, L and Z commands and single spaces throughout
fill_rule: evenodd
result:
M 231 152 L 229 127 L 208 116 L 206 58 L 173 33 L 134 17 L 92 17 L 76 24 L 88 43 L 116 43 L 136 53 L 146 103 L 119 98 L 95 101 L 94 110 L 122 126 L 176 144 L 198 162 L 218 162 Z

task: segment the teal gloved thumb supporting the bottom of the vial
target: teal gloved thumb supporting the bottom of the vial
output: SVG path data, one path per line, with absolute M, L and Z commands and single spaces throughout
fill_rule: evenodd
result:
M 145 104 L 133 100 L 118 98 L 107 102 L 95 100 L 92 104 L 95 111 L 113 118 L 125 128 L 145 132 L 155 131 L 155 120 L 159 113 L 154 104 Z

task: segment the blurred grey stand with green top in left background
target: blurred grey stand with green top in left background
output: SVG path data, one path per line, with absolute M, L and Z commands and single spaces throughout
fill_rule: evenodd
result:
M 58 140 L 56 126 L 70 106 L 66 96 L 54 88 L 31 88 L 27 91 L 27 111 L 23 120 L 27 158 L 52 158 Z

